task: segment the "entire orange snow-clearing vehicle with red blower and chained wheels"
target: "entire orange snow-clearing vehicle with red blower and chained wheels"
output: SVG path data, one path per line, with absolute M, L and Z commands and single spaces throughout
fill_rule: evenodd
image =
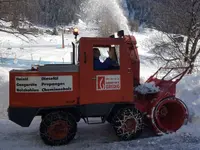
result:
M 77 39 L 78 32 L 74 32 Z M 176 84 L 188 68 L 171 79 L 174 68 L 161 68 L 140 84 L 140 60 L 134 36 L 82 37 L 73 45 L 71 64 L 46 64 L 29 70 L 11 70 L 9 119 L 29 127 L 41 116 L 40 136 L 45 144 L 64 145 L 73 140 L 77 124 L 91 118 L 109 122 L 120 140 L 140 136 L 145 125 L 156 134 L 176 132 L 188 118 L 185 104 L 175 97 Z M 95 70 L 93 48 L 112 50 L 115 69 Z M 169 70 L 161 79 L 160 70 Z M 149 85 L 154 85 L 153 89 Z M 144 92 L 149 89 L 150 92 Z M 148 90 L 147 90 L 148 91 Z

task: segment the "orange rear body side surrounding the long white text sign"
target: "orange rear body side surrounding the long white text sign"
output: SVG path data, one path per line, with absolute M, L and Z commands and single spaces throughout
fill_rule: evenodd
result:
M 47 93 L 16 93 L 16 76 L 73 76 L 73 91 Z M 10 72 L 11 107 L 57 107 L 76 105 L 79 97 L 79 73 Z

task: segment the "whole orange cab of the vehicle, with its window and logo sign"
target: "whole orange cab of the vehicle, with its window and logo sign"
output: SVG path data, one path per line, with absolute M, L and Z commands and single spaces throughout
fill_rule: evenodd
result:
M 122 36 L 79 40 L 80 104 L 133 102 L 133 73 Z

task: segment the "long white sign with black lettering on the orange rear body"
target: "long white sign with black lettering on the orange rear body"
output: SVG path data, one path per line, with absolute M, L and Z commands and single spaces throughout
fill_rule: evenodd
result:
M 15 77 L 16 93 L 73 91 L 72 76 Z

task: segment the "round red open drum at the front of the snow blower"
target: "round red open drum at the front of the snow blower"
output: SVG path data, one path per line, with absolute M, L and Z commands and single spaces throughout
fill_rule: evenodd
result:
M 173 133 L 185 124 L 188 114 L 188 108 L 181 100 L 170 97 L 153 107 L 151 122 L 157 134 Z

